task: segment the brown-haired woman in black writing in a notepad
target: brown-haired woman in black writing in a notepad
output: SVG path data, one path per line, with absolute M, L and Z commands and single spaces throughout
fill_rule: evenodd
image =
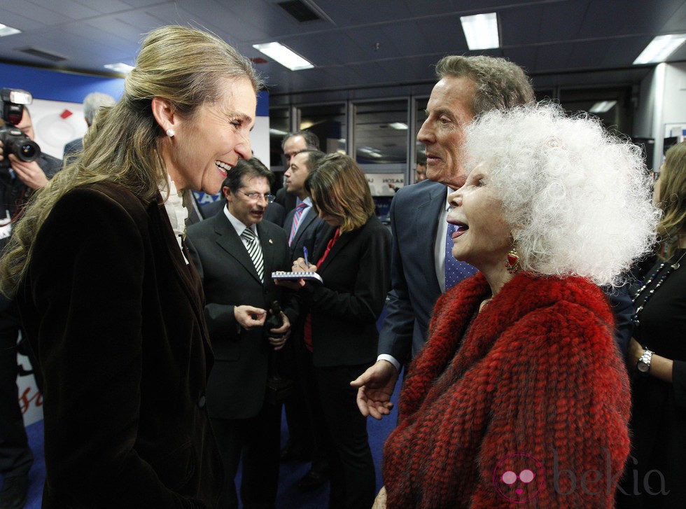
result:
M 375 476 L 367 438 L 367 422 L 360 414 L 357 377 L 377 349 L 376 321 L 390 284 L 391 234 L 374 215 L 367 179 L 347 155 L 323 158 L 305 181 L 329 235 L 315 248 L 306 265 L 293 270 L 316 271 L 323 284 L 300 290 L 310 319 L 304 342 L 311 352 L 309 400 L 313 415 L 323 418 L 328 431 L 330 508 L 365 508 L 374 501 Z

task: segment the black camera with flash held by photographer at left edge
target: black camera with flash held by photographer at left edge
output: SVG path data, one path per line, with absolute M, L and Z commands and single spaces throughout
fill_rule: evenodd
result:
M 0 168 L 10 167 L 8 155 L 14 154 L 20 161 L 35 161 L 41 157 L 41 148 L 22 132 L 16 125 L 22 121 L 24 105 L 31 104 L 30 92 L 14 88 L 0 90 L 0 141 L 2 141 L 3 160 Z

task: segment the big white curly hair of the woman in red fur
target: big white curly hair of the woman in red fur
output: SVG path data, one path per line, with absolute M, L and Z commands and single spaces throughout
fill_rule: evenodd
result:
M 597 118 L 550 103 L 489 111 L 463 153 L 489 169 L 523 270 L 617 286 L 651 251 L 660 213 L 640 149 Z

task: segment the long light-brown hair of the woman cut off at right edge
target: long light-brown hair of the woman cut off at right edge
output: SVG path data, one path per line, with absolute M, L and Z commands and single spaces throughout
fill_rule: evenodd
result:
M 662 257 L 668 260 L 679 248 L 679 235 L 686 233 L 686 141 L 666 152 L 659 183 L 658 207 L 664 215 L 657 224 L 657 237 L 664 246 Z

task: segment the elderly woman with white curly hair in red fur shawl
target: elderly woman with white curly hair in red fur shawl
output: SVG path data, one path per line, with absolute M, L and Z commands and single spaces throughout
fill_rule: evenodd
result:
M 629 379 L 608 300 L 659 212 L 636 146 L 540 104 L 467 127 L 453 255 L 384 448 L 376 506 L 612 507 Z

